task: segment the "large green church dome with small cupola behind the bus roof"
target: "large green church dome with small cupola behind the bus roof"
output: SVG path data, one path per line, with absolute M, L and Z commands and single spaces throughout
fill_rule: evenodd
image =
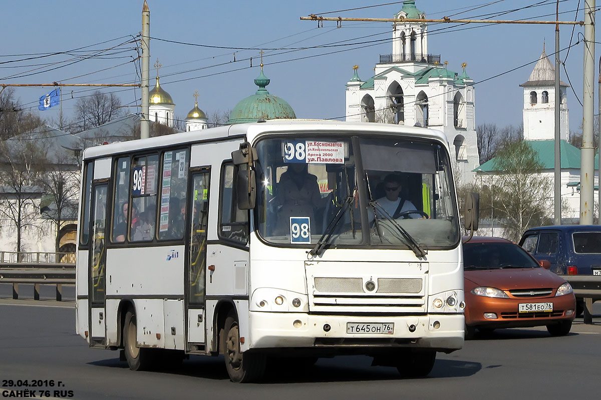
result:
M 265 86 L 269 85 L 269 78 L 261 73 L 255 79 L 259 87 L 254 95 L 242 99 L 230 113 L 228 124 L 244 124 L 245 122 L 267 121 L 267 119 L 296 118 L 290 104 L 282 98 L 269 94 Z

